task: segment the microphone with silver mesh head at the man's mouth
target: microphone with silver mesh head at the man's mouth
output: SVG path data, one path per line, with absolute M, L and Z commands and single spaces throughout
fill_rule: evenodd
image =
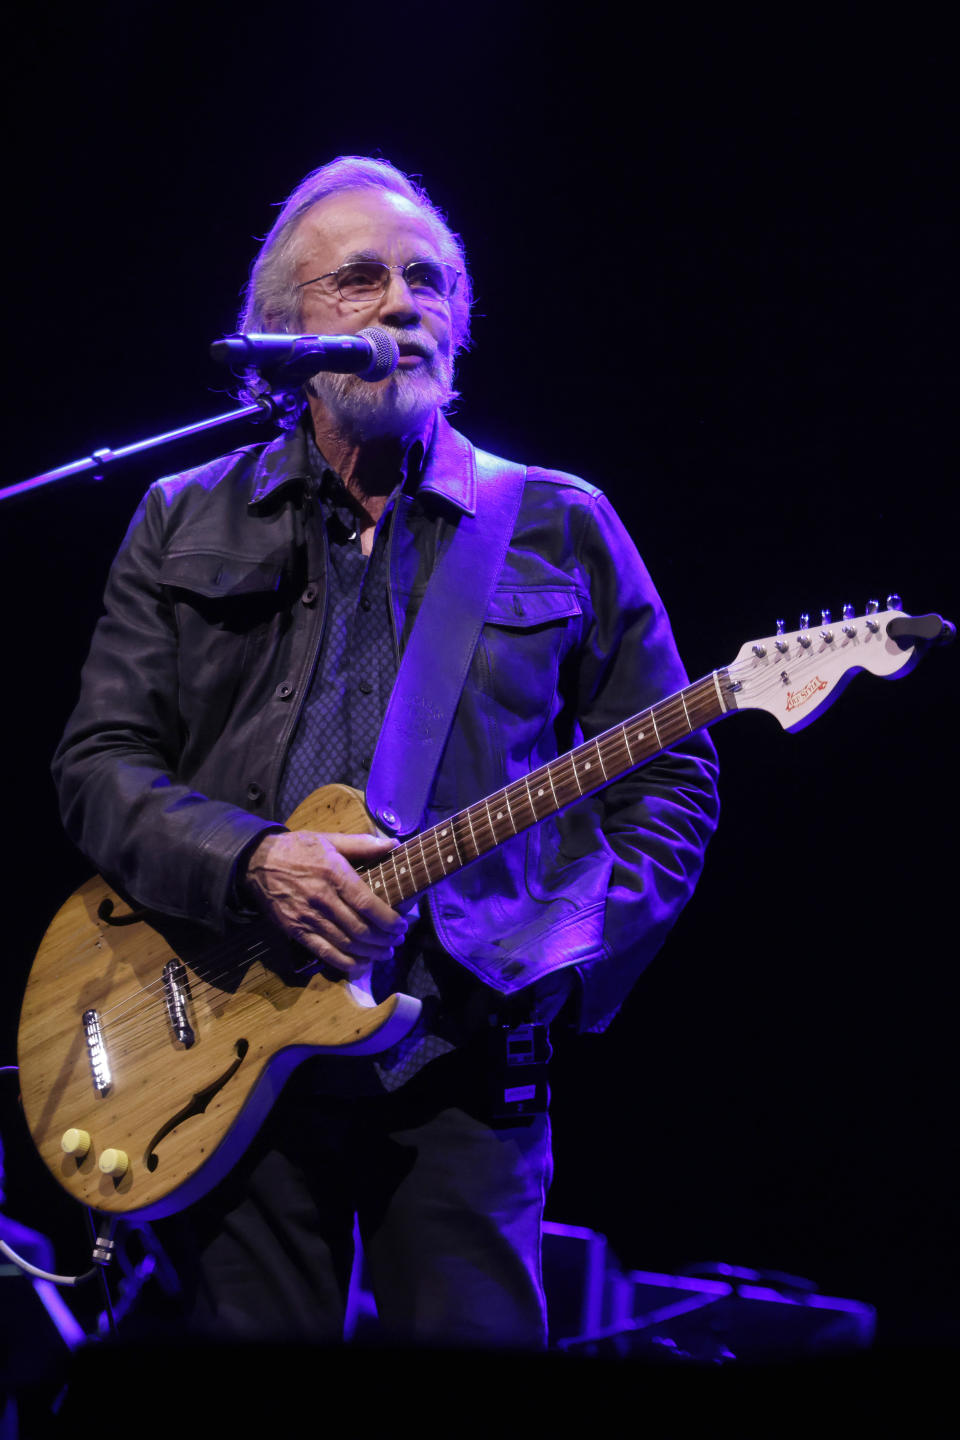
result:
M 318 370 L 386 380 L 400 361 L 393 336 L 376 325 L 356 336 L 225 336 L 210 354 L 236 370 L 258 370 L 273 390 L 296 390 Z

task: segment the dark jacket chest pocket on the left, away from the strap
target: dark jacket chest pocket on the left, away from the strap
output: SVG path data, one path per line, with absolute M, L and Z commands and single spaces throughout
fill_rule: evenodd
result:
M 252 658 L 272 642 L 288 608 L 284 566 L 210 550 L 186 552 L 164 556 L 160 583 L 177 625 L 181 697 L 222 710 Z

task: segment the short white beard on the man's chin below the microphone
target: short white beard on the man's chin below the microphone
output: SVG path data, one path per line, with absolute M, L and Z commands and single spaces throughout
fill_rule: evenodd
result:
M 409 333 L 390 333 L 397 341 L 415 338 Z M 456 395 L 452 357 L 442 354 L 436 346 L 430 360 L 413 370 L 394 370 L 374 384 L 356 374 L 321 372 L 307 382 L 307 389 L 327 406 L 337 426 L 356 439 L 410 435 Z

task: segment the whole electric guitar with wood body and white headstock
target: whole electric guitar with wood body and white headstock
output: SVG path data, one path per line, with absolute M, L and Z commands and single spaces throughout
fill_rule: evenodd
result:
M 780 624 L 727 668 L 422 831 L 363 878 L 400 904 L 692 730 L 747 708 L 799 730 L 858 671 L 904 675 L 924 642 L 951 631 L 937 615 L 881 612 L 875 602 L 862 616 L 846 606 L 839 624 L 826 612 L 813 629 L 784 634 Z M 311 795 L 289 827 L 376 828 L 360 792 L 343 785 Z M 27 1126 L 50 1174 L 85 1205 L 173 1214 L 226 1175 L 296 1064 L 383 1051 L 419 1009 L 399 994 L 374 1004 L 268 922 L 210 939 L 131 909 L 94 878 L 53 917 L 27 979 L 19 1032 Z

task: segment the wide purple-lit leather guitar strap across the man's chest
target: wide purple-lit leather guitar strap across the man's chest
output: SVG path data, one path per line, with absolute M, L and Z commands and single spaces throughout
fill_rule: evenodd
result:
M 474 454 L 476 514 L 459 516 L 433 567 L 370 766 L 367 806 L 390 835 L 410 835 L 423 819 L 520 510 L 525 467 Z

